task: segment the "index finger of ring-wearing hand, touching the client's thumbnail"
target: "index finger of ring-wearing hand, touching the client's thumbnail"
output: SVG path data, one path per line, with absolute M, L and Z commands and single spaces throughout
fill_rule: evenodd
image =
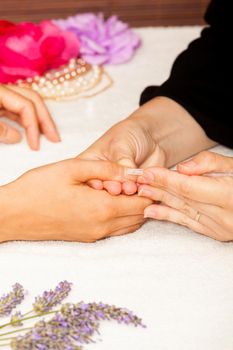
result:
M 139 176 L 138 183 L 162 188 L 178 197 L 189 198 L 221 207 L 231 207 L 233 198 L 227 183 L 204 176 L 188 176 L 165 168 L 149 168 Z

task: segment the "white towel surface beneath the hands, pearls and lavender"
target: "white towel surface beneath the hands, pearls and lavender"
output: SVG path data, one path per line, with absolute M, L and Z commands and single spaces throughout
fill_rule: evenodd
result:
M 1 183 L 84 150 L 137 107 L 145 86 L 167 78 L 175 56 L 200 28 L 138 31 L 143 48 L 129 64 L 108 69 L 113 88 L 89 100 L 49 103 L 61 144 L 43 140 L 38 153 L 25 143 L 0 145 Z M 219 151 L 232 154 L 224 148 Z M 29 291 L 25 309 L 35 295 L 63 279 L 74 283 L 70 301 L 125 306 L 148 326 L 105 323 L 102 342 L 85 349 L 233 349 L 233 243 L 219 243 L 173 224 L 148 222 L 134 234 L 95 244 L 0 245 L 0 292 L 16 281 L 22 283 Z

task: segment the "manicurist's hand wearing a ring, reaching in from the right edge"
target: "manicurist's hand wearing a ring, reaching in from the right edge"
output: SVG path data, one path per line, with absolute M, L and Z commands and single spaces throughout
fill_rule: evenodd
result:
M 233 240 L 233 158 L 201 152 L 181 163 L 178 172 L 149 168 L 138 178 L 140 196 L 157 204 L 145 217 L 167 220 L 219 241 Z M 218 176 L 203 174 L 218 173 Z

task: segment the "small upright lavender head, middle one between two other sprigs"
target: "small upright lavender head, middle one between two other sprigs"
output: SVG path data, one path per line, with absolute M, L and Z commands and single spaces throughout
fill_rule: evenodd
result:
M 50 311 L 67 297 L 71 291 L 71 285 L 72 283 L 63 281 L 56 286 L 55 290 L 45 291 L 42 296 L 35 298 L 33 310 L 39 314 Z

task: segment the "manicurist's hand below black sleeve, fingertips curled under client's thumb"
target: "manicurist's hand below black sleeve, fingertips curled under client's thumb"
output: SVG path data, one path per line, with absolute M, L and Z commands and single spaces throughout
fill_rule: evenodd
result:
M 183 107 L 167 97 L 157 97 L 114 125 L 79 158 L 110 160 L 133 168 L 170 167 L 213 144 Z M 111 194 L 137 191 L 133 182 L 89 184 Z

